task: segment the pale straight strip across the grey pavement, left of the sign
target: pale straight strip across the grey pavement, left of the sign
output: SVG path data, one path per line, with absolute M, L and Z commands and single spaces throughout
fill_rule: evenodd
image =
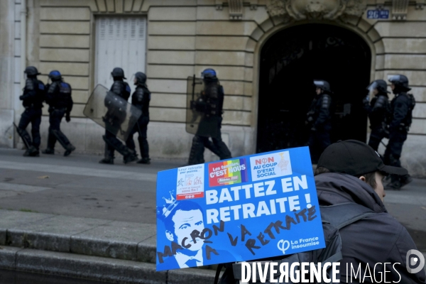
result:
M 62 173 L 64 175 L 84 175 L 97 178 L 122 178 L 126 180 L 143 180 L 155 182 L 157 174 L 153 173 L 131 173 L 123 170 L 100 170 L 94 168 L 80 168 L 68 165 L 48 165 L 35 163 L 17 163 L 0 161 L 0 168 L 9 170 L 33 170 L 45 173 Z

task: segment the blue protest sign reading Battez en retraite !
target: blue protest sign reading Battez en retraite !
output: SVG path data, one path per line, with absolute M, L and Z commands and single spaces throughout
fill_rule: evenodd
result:
M 307 147 L 158 173 L 157 271 L 324 247 Z

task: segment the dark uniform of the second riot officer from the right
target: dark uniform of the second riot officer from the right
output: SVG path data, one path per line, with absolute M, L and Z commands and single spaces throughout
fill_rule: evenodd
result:
M 368 146 L 377 151 L 378 145 L 383 138 L 388 138 L 388 126 L 386 124 L 386 119 L 389 115 L 390 106 L 388 94 L 385 92 L 379 92 L 376 94 L 371 102 L 368 102 L 367 99 L 364 100 L 364 109 L 368 113 L 368 118 L 370 119 L 370 139 L 368 140 Z

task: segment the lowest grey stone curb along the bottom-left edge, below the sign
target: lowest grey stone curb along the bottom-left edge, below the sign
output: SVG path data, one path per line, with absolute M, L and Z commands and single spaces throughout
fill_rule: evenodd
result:
M 19 249 L 11 246 L 0 247 L 0 268 L 126 284 L 212 283 L 215 275 L 214 271 L 197 268 L 155 271 L 153 263 Z

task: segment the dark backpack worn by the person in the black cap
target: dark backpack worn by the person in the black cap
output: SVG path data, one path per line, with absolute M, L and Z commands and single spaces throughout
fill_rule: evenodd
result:
M 302 263 L 302 262 L 312 262 L 312 263 L 337 263 L 342 260 L 342 239 L 340 238 L 339 229 L 348 226 L 354 222 L 359 221 L 374 212 L 371 209 L 368 209 L 360 204 L 356 203 L 342 203 L 330 206 L 320 206 L 321 218 L 322 218 L 322 229 L 324 230 L 324 241 L 325 248 L 317 249 L 314 251 L 305 251 L 302 253 L 295 253 L 291 256 L 286 256 L 285 258 L 273 258 L 273 259 L 263 259 L 256 262 L 266 263 L 269 261 L 275 261 L 280 266 L 280 263 L 288 263 L 288 267 L 292 263 Z M 250 263 L 250 262 L 249 262 Z M 263 266 L 263 265 L 262 265 Z M 226 270 L 222 275 L 222 278 L 219 281 L 219 284 L 239 284 L 241 280 L 241 263 L 226 263 L 219 264 L 216 277 L 214 279 L 214 284 L 218 283 L 219 274 L 222 271 L 222 267 L 225 267 Z M 264 267 L 264 266 L 263 266 Z M 296 266 L 295 270 L 300 270 L 300 266 Z M 266 271 L 266 283 L 269 282 L 269 271 Z M 259 279 L 258 271 L 256 271 L 256 279 Z M 331 279 L 331 267 L 327 269 L 327 274 Z M 339 275 L 337 275 L 339 276 Z M 280 272 L 275 273 L 275 280 L 280 278 Z M 251 282 L 250 282 L 251 283 Z M 280 283 L 280 282 L 278 282 Z M 293 282 L 285 282 L 293 283 Z M 317 282 L 315 282 L 317 283 Z M 321 282 L 322 283 L 322 282 Z M 320 284 L 320 283 L 317 283 Z

